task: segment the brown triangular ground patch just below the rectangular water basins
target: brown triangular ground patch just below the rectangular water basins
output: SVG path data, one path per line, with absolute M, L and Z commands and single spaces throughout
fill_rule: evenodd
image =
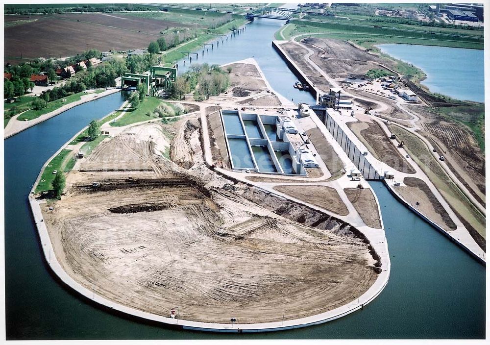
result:
M 277 186 L 274 189 L 338 215 L 347 216 L 349 214 L 335 188 L 326 186 Z

